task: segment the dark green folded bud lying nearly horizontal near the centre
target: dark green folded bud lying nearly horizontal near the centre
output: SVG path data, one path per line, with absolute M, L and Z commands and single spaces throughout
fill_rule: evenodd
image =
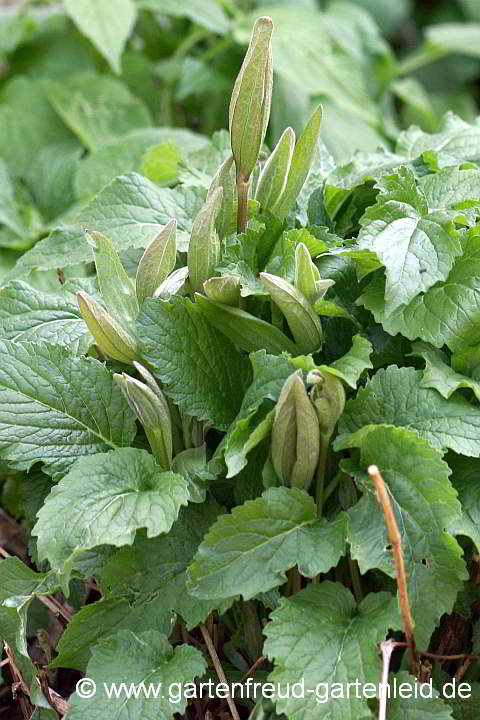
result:
M 255 315 L 214 302 L 204 295 L 196 294 L 195 301 L 210 323 L 242 350 L 265 349 L 270 355 L 282 352 L 298 355 L 298 348 L 281 330 Z

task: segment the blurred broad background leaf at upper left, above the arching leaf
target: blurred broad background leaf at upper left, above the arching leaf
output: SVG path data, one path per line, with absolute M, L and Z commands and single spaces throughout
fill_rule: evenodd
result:
M 81 0 L 87 1 L 93 2 Z M 65 83 L 45 79 L 43 86 L 56 112 L 89 150 L 129 130 L 152 124 L 142 101 L 109 75 L 80 73 Z

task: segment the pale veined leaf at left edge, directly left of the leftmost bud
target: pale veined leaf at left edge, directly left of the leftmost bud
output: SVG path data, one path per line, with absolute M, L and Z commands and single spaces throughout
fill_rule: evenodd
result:
M 63 345 L 77 355 L 93 342 L 73 295 L 41 292 L 20 281 L 0 290 L 0 337 Z

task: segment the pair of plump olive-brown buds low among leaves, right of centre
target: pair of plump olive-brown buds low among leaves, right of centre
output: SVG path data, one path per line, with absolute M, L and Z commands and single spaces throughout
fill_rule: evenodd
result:
M 345 406 L 339 378 L 326 370 L 307 375 L 301 370 L 286 380 L 275 406 L 271 458 L 283 485 L 308 490 L 315 475 L 322 444 L 329 443 Z

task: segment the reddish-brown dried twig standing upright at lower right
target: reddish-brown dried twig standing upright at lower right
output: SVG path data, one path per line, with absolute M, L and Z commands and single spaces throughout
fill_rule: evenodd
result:
M 414 669 L 417 665 L 417 650 L 415 647 L 415 638 L 413 635 L 413 618 L 408 602 L 408 588 L 407 580 L 405 577 L 405 564 L 403 561 L 402 537 L 398 530 L 397 521 L 395 520 L 395 515 L 392 510 L 390 497 L 385 487 L 385 482 L 383 480 L 383 477 L 380 475 L 378 467 L 376 465 L 370 465 L 370 467 L 368 468 L 368 473 L 372 478 L 373 482 L 375 483 L 377 500 L 383 508 L 383 514 L 385 516 L 385 522 L 387 524 L 388 537 L 392 545 L 392 554 L 397 576 L 400 611 L 403 617 L 405 638 L 407 640 L 408 648 L 410 650 L 412 669 Z

